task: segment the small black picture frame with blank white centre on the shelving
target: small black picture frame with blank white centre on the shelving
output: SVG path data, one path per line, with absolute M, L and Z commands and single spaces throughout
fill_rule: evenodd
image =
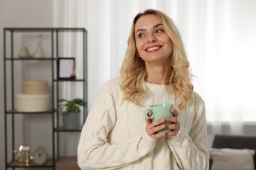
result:
M 57 74 L 58 79 L 74 79 L 75 58 L 58 58 Z

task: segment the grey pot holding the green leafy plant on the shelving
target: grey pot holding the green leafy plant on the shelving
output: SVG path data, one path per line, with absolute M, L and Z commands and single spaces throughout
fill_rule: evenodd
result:
M 80 113 L 63 114 L 63 129 L 77 129 L 80 122 Z

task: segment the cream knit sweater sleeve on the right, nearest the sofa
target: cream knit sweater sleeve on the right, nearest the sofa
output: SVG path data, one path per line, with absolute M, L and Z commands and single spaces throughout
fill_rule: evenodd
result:
M 205 104 L 199 95 L 196 102 L 192 103 L 186 113 L 194 114 L 190 119 L 192 122 L 190 131 L 181 127 L 179 134 L 169 137 L 167 143 L 180 169 L 209 169 Z

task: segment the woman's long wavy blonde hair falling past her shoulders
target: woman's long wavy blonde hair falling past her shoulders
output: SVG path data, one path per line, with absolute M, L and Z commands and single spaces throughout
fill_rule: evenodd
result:
M 125 99 L 142 106 L 140 101 L 144 94 L 148 92 L 146 86 L 146 69 L 145 63 L 141 58 L 137 57 L 138 51 L 135 42 L 135 24 L 141 16 L 155 14 L 160 18 L 161 24 L 165 28 L 167 35 L 173 41 L 173 52 L 171 58 L 171 77 L 167 82 L 166 91 L 174 93 L 176 99 L 181 97 L 179 109 L 184 108 L 186 102 L 193 96 L 193 85 L 191 83 L 191 74 L 188 58 L 184 50 L 181 35 L 169 16 L 154 9 L 145 10 L 137 14 L 133 20 L 131 33 L 127 40 L 127 50 L 121 67 L 121 89 L 125 94 Z

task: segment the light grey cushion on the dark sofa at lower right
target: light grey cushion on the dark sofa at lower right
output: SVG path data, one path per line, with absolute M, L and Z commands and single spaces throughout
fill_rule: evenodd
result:
M 254 170 L 254 154 L 251 149 L 209 148 L 211 170 Z

